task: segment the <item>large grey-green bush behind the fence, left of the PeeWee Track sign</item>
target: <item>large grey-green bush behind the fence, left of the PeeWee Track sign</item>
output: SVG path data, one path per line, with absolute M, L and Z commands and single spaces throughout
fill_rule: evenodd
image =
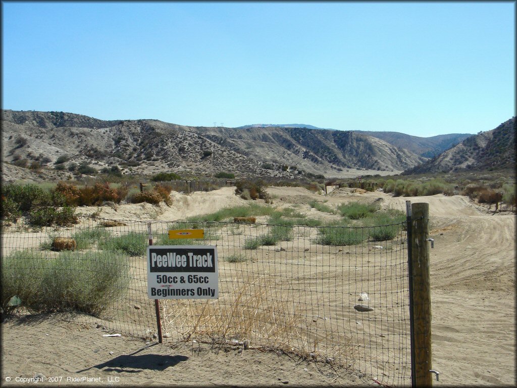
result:
M 62 252 L 48 259 L 37 251 L 15 251 L 2 260 L 2 307 L 16 295 L 29 311 L 100 316 L 123 290 L 126 268 L 114 252 Z

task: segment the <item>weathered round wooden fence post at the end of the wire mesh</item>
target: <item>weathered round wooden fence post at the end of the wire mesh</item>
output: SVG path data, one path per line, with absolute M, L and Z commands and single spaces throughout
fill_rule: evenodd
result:
M 432 386 L 431 287 L 429 277 L 429 203 L 411 204 L 411 272 L 415 367 L 412 385 Z M 413 381 L 414 380 L 414 381 Z

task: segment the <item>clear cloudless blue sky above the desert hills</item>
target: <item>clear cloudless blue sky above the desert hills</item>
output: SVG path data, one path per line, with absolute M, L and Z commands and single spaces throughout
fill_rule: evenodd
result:
M 2 2 L 2 108 L 415 136 L 515 115 L 515 3 Z

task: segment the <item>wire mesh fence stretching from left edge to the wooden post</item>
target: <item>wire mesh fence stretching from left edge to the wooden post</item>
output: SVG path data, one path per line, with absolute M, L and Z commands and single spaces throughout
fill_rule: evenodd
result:
M 17 295 L 29 309 L 71 308 L 87 323 L 151 338 L 157 322 L 147 295 L 149 223 L 155 246 L 215 245 L 218 252 L 218 299 L 160 301 L 164 341 L 248 341 L 385 385 L 409 384 L 405 223 L 345 228 L 82 217 L 71 228 L 4 231 L 2 307 Z M 204 239 L 169 239 L 169 230 L 190 228 L 204 229 Z

